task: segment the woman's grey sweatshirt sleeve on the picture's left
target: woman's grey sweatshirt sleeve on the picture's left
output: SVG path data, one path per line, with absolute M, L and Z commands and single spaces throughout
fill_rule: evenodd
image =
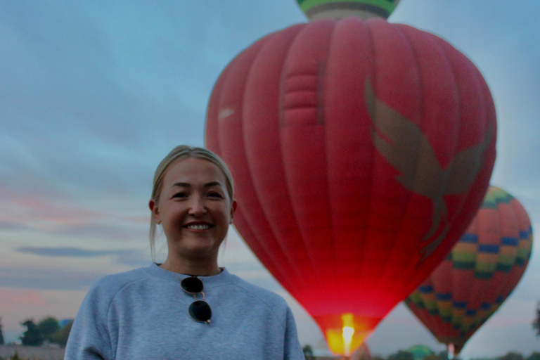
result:
M 110 296 L 106 286 L 97 283 L 81 304 L 65 347 L 64 360 L 112 360 L 108 331 Z

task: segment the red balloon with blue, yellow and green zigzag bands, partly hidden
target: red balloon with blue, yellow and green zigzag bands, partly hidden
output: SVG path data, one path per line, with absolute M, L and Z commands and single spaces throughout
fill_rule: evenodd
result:
M 531 221 L 522 205 L 491 186 L 449 256 L 407 299 L 409 309 L 439 342 L 465 342 L 510 295 L 532 251 Z

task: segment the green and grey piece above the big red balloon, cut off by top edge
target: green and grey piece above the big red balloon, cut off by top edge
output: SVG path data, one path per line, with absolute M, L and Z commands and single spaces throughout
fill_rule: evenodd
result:
M 296 0 L 309 20 L 388 18 L 400 0 Z

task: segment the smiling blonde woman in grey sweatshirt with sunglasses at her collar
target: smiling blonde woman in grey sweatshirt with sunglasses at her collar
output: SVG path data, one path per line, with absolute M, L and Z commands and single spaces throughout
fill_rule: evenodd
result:
M 155 172 L 149 206 L 152 255 L 160 224 L 167 259 L 98 281 L 65 359 L 304 359 L 285 301 L 217 266 L 236 210 L 217 155 L 174 148 Z

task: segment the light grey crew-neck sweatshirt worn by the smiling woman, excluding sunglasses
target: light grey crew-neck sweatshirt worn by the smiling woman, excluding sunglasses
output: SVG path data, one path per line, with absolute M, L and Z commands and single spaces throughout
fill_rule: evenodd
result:
M 82 302 L 65 359 L 304 359 L 282 297 L 226 269 L 200 276 L 212 321 L 199 323 L 185 277 L 153 264 L 102 278 Z

